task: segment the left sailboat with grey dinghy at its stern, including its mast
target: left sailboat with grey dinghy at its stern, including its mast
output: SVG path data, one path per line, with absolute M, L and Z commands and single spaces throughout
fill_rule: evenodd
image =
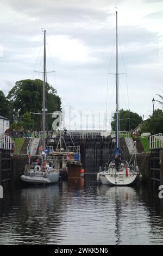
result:
M 47 79 L 47 71 L 46 71 L 46 30 L 44 32 L 44 54 L 43 54 L 43 97 L 42 97 L 42 130 L 43 130 L 43 138 L 42 138 L 42 154 L 41 154 L 41 163 L 37 162 L 35 166 L 27 164 L 25 168 L 24 175 L 21 175 L 21 180 L 33 183 L 33 184 L 49 184 L 55 183 L 59 181 L 59 170 L 54 168 L 53 161 L 48 162 L 46 160 L 47 149 L 45 146 L 45 111 L 46 111 L 46 79 Z

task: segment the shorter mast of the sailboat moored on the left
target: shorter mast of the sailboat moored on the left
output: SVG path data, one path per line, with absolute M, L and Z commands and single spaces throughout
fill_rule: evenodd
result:
M 46 30 L 44 30 L 44 47 L 43 47 L 43 100 L 42 100 L 42 131 L 43 131 L 43 144 L 42 150 L 45 150 L 45 93 L 46 93 Z

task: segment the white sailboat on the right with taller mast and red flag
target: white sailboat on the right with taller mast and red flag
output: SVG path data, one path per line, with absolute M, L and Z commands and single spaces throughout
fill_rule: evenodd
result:
M 105 170 L 100 170 L 97 174 L 97 180 L 101 181 L 105 185 L 131 185 L 139 176 L 139 168 L 136 166 L 136 142 L 134 142 L 133 156 L 134 164 L 130 165 L 127 161 L 121 160 L 121 148 L 120 148 L 120 132 L 119 132 L 119 84 L 118 84 L 118 32 L 117 32 L 117 11 L 116 11 L 116 139 L 115 139 L 115 151 L 114 159 L 110 162 L 109 167 Z

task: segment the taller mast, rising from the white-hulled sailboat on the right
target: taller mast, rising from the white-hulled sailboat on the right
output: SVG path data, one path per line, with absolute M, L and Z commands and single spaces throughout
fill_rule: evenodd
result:
M 117 11 L 116 11 L 116 149 L 119 147 L 118 126 L 119 126 L 119 84 L 118 84 L 118 26 L 117 26 Z

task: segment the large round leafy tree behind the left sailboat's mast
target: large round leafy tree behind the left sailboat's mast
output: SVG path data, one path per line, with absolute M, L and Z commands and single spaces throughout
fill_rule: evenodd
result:
M 15 86 L 10 90 L 7 99 L 12 102 L 12 109 L 19 121 L 23 121 L 24 127 L 31 127 L 35 130 L 41 130 L 41 115 L 32 114 L 29 118 L 29 113 L 42 113 L 42 91 L 43 81 L 21 80 L 15 83 Z M 57 91 L 46 83 L 46 108 L 48 113 L 61 111 L 61 99 L 57 95 Z M 33 121 L 32 121 L 33 119 Z M 52 117 L 46 115 L 46 124 L 48 129 L 52 129 Z M 34 125 L 32 127 L 32 125 Z

